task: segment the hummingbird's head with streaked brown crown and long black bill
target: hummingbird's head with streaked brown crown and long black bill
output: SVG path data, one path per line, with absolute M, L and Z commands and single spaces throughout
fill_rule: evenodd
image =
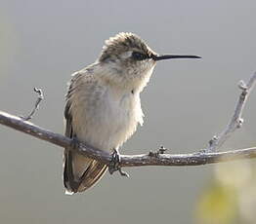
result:
M 136 34 L 121 32 L 106 41 L 99 62 L 107 69 L 107 78 L 115 84 L 142 90 L 149 82 L 156 61 L 170 58 L 200 57 L 160 56 Z

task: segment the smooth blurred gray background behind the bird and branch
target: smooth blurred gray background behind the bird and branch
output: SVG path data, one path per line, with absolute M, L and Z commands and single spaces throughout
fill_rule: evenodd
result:
M 124 154 L 164 145 L 187 153 L 207 145 L 228 123 L 236 84 L 256 70 L 256 2 L 0 1 L 1 110 L 26 115 L 33 87 L 45 100 L 32 122 L 64 131 L 64 94 L 70 74 L 94 62 L 119 31 L 140 35 L 157 53 L 200 60 L 159 62 L 142 94 L 145 125 Z M 256 93 L 242 130 L 223 149 L 255 146 Z M 92 190 L 64 195 L 62 148 L 0 127 L 1 223 L 194 223 L 198 195 L 214 166 L 125 168 Z

